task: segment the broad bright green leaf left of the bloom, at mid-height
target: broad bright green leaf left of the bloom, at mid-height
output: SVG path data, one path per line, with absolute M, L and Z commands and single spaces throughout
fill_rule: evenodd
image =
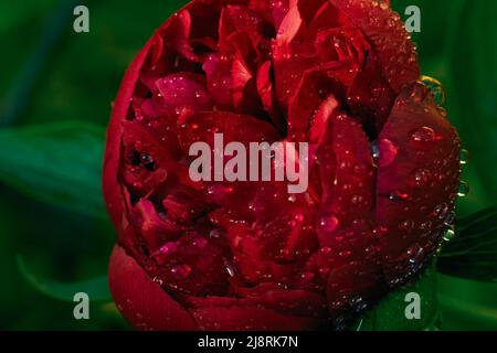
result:
M 0 182 L 52 205 L 106 217 L 102 191 L 105 130 L 63 121 L 0 130 Z

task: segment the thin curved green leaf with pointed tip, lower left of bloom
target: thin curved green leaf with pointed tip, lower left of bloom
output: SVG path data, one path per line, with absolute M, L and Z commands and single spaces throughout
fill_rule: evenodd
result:
M 92 301 L 109 301 L 107 276 L 96 277 L 81 282 L 62 284 L 35 275 L 21 256 L 17 257 L 18 268 L 24 279 L 41 293 L 62 301 L 73 301 L 74 295 L 85 292 Z

